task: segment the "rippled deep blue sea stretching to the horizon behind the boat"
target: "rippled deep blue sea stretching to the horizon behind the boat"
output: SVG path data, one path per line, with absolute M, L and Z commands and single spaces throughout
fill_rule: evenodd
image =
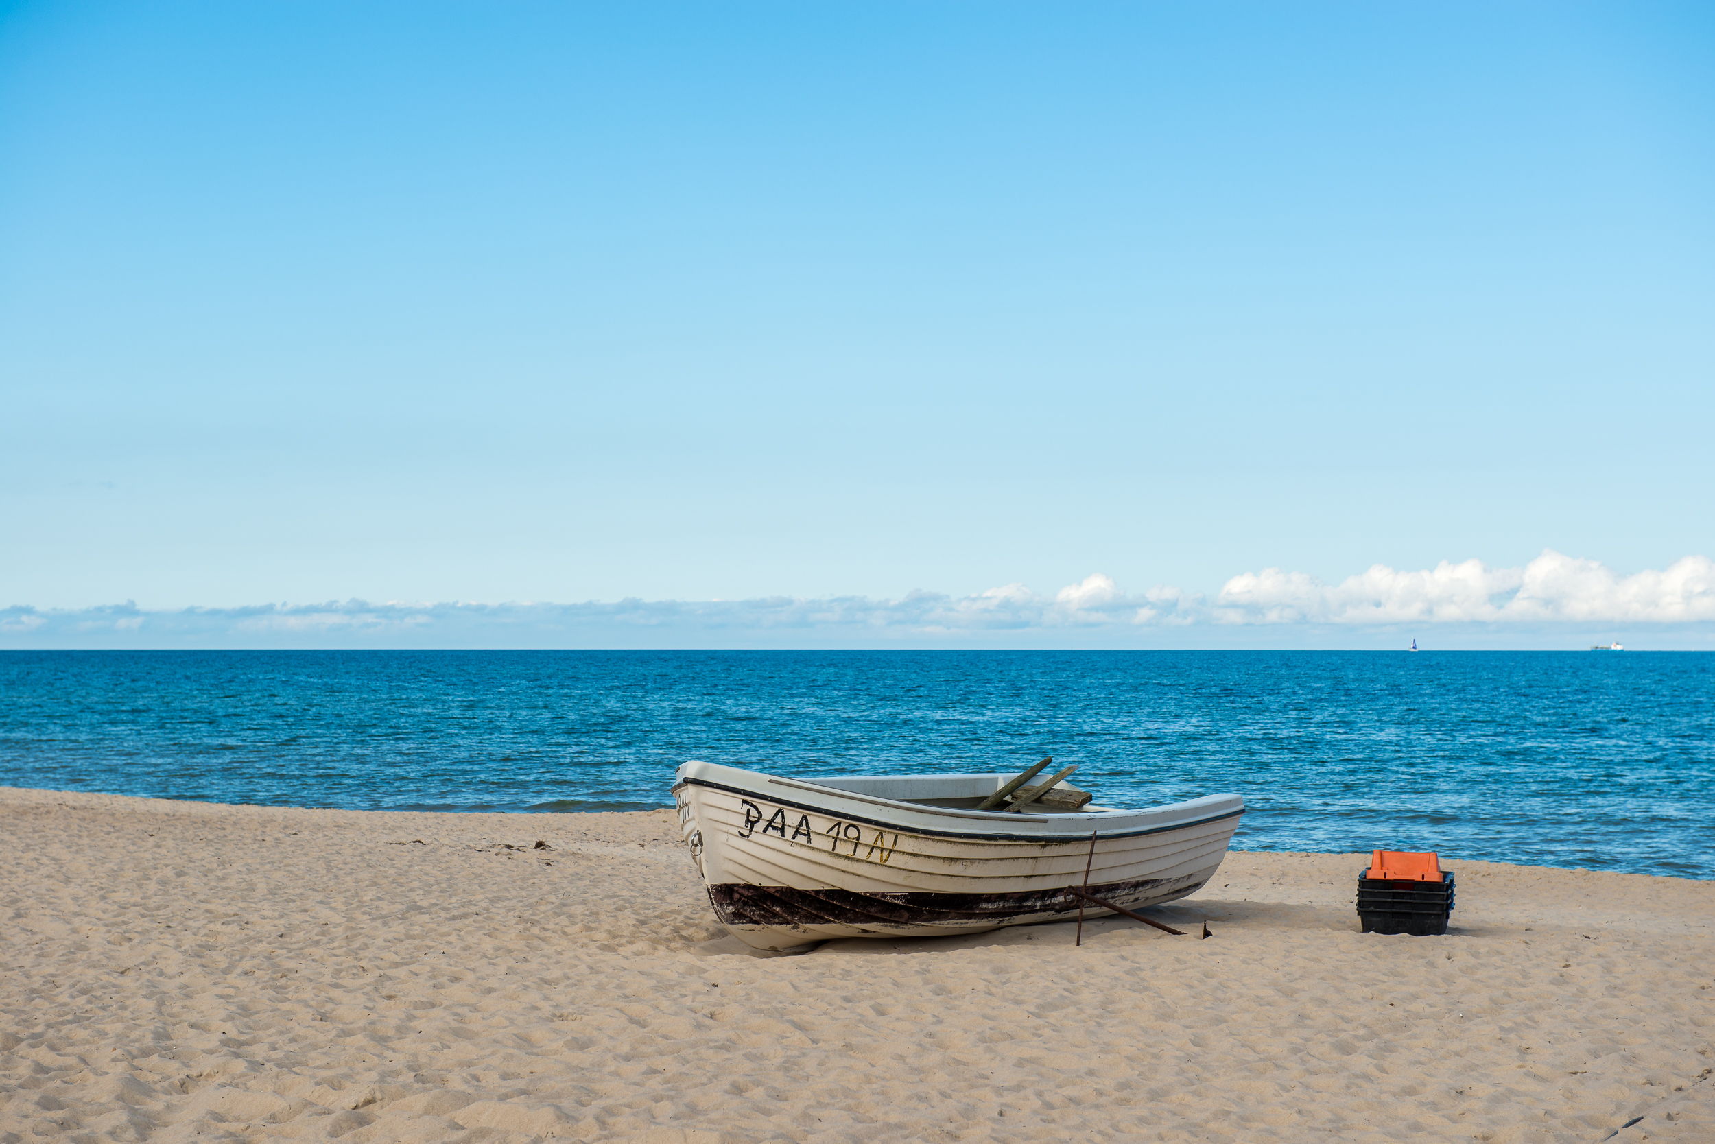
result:
M 0 652 L 0 784 L 358 810 L 671 806 L 688 758 L 1238 792 L 1254 851 L 1715 878 L 1700 652 Z

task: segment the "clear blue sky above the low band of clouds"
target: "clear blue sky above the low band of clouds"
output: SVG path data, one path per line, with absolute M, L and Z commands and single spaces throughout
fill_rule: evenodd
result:
M 1708 5 L 14 3 L 0 605 L 1664 571 L 1712 122 Z

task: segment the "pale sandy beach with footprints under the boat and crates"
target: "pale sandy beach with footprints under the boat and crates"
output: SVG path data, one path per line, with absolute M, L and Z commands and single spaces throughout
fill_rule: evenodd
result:
M 748 954 L 671 811 L 0 789 L 0 1144 L 1715 1141 L 1715 883 L 1358 854 L 1166 921 Z M 1183 926 L 1182 926 L 1183 928 Z

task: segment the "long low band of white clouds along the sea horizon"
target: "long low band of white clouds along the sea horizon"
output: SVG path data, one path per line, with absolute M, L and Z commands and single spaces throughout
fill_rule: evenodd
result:
M 1008 583 L 952 597 L 617 600 L 611 604 L 262 604 L 144 611 L 0 609 L 0 647 L 741 647 L 959 645 L 979 640 L 1108 640 L 1139 628 L 1231 631 L 1237 626 L 1339 624 L 1696 624 L 1715 621 L 1715 561 L 1688 556 L 1664 571 L 1622 576 L 1598 561 L 1545 551 L 1523 568 L 1477 559 L 1422 571 L 1375 564 L 1338 585 L 1264 568 L 1226 581 L 1216 599 L 1154 587 L 1125 592 L 1092 573 L 1053 595 Z M 1056 635 L 1058 633 L 1058 635 Z M 1106 633 L 1106 635 L 1104 635 Z

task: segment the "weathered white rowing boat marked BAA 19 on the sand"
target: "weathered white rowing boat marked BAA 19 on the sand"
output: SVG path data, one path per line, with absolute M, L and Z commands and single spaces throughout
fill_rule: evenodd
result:
M 1022 787 L 1046 762 L 1015 779 L 785 779 L 689 762 L 672 792 L 720 923 L 779 952 L 1068 921 L 1080 902 L 1094 916 L 1171 902 L 1214 876 L 1245 810 L 1237 794 L 1096 806 L 1060 794 L 1067 772 Z M 1008 791 L 1010 804 L 979 810 Z

